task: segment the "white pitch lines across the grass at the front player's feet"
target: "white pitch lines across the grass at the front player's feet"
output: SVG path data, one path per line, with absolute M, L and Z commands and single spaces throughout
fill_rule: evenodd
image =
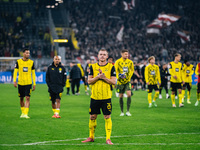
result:
M 137 137 L 137 136 L 168 136 L 168 135 L 194 135 L 200 133 L 159 133 L 159 134 L 139 134 L 139 135 L 123 135 L 123 136 L 111 136 L 112 138 L 122 138 L 122 137 Z M 105 137 L 95 137 L 95 139 L 102 139 Z M 46 144 L 46 143 L 56 143 L 56 142 L 69 142 L 69 141 L 79 141 L 84 140 L 86 138 L 76 138 L 76 139 L 65 139 L 65 140 L 53 140 L 53 141 L 43 141 L 43 142 L 35 142 L 35 143 L 24 143 L 24 144 L 0 144 L 0 146 L 26 146 L 26 145 L 56 145 L 56 144 Z M 157 144 L 167 144 L 167 145 L 199 145 L 200 143 L 116 143 L 115 145 L 142 145 L 142 144 L 150 144 L 150 145 L 157 145 Z M 58 144 L 58 145 L 91 145 L 91 144 Z M 101 143 L 96 143 L 95 145 L 104 145 Z

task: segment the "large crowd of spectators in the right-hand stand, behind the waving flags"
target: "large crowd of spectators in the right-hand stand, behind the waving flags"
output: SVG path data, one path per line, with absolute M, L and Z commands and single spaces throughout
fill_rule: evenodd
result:
M 71 0 L 66 4 L 70 12 L 70 27 L 79 42 L 79 55 L 89 58 L 104 47 L 116 60 L 122 49 L 128 49 L 134 61 L 146 60 L 151 55 L 159 61 L 171 61 L 176 52 L 182 54 L 183 60 L 199 61 L 199 7 L 200 2 L 193 0 L 135 0 L 135 7 L 131 10 L 124 10 L 120 0 Z M 160 35 L 148 36 L 147 25 L 162 12 L 181 18 L 162 28 Z M 116 35 L 122 25 L 124 35 L 120 42 Z M 188 31 L 190 41 L 182 44 L 178 30 Z

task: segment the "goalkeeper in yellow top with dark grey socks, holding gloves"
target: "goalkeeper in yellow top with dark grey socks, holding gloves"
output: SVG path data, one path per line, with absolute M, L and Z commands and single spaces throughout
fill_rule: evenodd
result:
M 134 72 L 134 65 L 133 62 L 128 59 L 128 50 L 121 51 L 121 58 L 115 62 L 115 70 L 116 70 L 116 77 L 117 77 L 117 93 L 119 93 L 119 104 L 121 109 L 120 116 L 124 116 L 123 111 L 123 94 L 125 91 L 127 92 L 127 112 L 126 116 L 131 116 L 129 112 L 131 106 L 131 77 Z

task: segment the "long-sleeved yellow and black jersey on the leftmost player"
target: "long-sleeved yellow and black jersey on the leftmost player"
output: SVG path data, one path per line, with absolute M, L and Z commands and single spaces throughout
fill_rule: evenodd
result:
M 23 59 L 18 59 L 15 64 L 15 70 L 13 75 L 13 81 L 16 82 L 17 73 L 19 72 L 18 84 L 19 85 L 36 85 L 35 83 L 35 67 L 33 60 L 28 59 L 24 61 Z

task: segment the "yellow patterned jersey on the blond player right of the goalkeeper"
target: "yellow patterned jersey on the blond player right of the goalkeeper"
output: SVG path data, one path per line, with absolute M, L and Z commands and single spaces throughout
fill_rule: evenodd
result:
M 149 64 L 145 67 L 145 81 L 148 82 L 149 85 L 161 83 L 160 70 L 158 65 Z

